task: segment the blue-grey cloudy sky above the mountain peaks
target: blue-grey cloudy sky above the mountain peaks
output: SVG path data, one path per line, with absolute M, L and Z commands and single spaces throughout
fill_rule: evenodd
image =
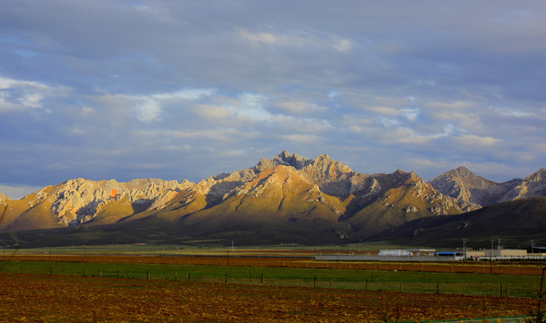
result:
M 546 167 L 546 2 L 2 0 L 0 192 L 189 179 L 282 151 L 353 170 Z

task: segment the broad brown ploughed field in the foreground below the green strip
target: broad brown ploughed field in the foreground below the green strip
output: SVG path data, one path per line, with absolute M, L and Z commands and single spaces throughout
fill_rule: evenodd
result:
M 528 314 L 522 298 L 0 274 L 2 322 L 380 322 Z

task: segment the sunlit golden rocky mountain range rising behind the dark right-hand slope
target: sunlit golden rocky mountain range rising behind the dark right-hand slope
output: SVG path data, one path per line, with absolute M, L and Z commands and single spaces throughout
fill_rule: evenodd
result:
M 460 167 L 426 182 L 414 171 L 365 175 L 328 154 L 282 152 L 198 183 L 71 179 L 20 200 L 0 194 L 0 240 L 357 242 L 427 218 L 546 196 L 545 172 L 497 183 Z

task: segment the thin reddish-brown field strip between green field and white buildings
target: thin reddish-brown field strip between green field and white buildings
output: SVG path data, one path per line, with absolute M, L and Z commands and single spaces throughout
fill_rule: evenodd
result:
M 506 275 L 541 275 L 542 266 L 515 266 L 489 262 L 326 262 L 314 258 L 294 257 L 228 257 L 228 256 L 103 256 L 103 255 L 13 255 L 5 260 L 13 261 L 73 261 L 93 263 L 167 264 L 167 265 L 209 265 L 209 266 L 269 266 L 296 268 L 328 268 L 355 270 L 400 270 L 436 273 L 473 273 Z

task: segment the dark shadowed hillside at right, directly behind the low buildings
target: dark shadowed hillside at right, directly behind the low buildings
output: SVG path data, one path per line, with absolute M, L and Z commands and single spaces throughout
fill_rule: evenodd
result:
M 490 240 L 501 239 L 513 247 L 526 248 L 530 240 L 546 244 L 546 196 L 516 199 L 489 205 L 465 214 L 418 219 L 375 234 L 370 240 L 388 240 L 414 246 L 487 249 Z M 489 247 L 490 248 L 490 247 Z

